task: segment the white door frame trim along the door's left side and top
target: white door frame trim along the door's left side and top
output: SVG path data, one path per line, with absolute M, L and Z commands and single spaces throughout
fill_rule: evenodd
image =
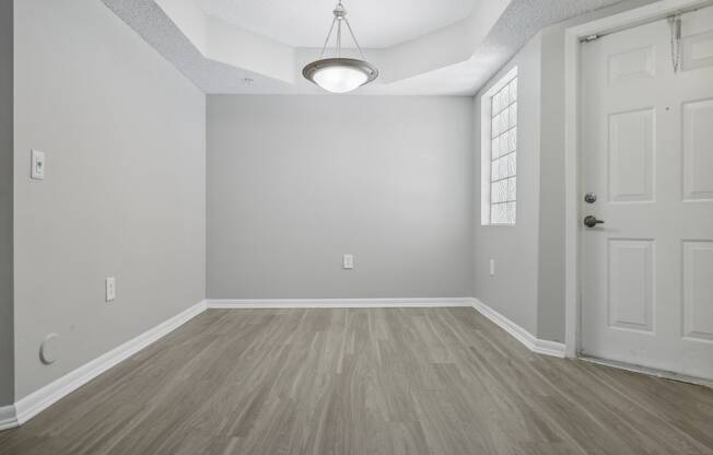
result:
M 580 43 L 592 35 L 603 35 L 669 16 L 676 12 L 708 5 L 711 0 L 662 0 L 619 14 L 576 25 L 564 31 L 565 77 L 565 277 L 564 277 L 564 342 L 569 358 L 580 353 Z

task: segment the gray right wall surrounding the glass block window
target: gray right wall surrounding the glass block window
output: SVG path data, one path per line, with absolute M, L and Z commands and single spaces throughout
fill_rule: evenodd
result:
M 517 221 L 480 222 L 480 109 L 483 93 L 517 67 Z M 540 35 L 535 36 L 476 96 L 475 103 L 475 296 L 530 334 L 537 332 L 539 223 Z M 490 259 L 495 276 L 490 276 Z

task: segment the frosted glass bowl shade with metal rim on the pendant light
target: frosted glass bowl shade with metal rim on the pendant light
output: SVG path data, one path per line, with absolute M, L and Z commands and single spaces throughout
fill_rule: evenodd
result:
M 372 82 L 378 71 L 363 60 L 328 58 L 307 65 L 302 74 L 328 92 L 347 93 Z

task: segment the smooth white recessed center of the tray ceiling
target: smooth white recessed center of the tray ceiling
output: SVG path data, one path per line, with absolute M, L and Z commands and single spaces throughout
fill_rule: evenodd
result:
M 293 47 L 322 47 L 337 4 L 337 0 L 195 1 L 213 18 Z M 359 44 L 384 48 L 461 21 L 477 0 L 342 1 Z

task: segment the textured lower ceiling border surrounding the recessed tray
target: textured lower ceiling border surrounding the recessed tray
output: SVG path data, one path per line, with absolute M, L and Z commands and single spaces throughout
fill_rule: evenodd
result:
M 152 0 L 103 1 L 206 93 L 325 94 L 299 77 L 297 82 L 292 84 L 204 58 Z M 542 27 L 619 2 L 513 0 L 469 59 L 390 84 L 374 83 L 360 89 L 355 94 L 475 94 Z M 369 58 L 369 50 L 366 54 Z M 306 57 L 311 56 L 312 54 Z M 295 72 L 299 72 L 299 69 L 295 69 Z M 246 82 L 246 78 L 249 82 Z

